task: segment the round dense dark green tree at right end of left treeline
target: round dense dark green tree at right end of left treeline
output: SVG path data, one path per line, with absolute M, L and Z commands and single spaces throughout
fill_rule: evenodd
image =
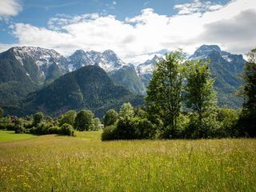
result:
M 94 130 L 94 113 L 90 110 L 80 110 L 74 119 L 74 129 Z

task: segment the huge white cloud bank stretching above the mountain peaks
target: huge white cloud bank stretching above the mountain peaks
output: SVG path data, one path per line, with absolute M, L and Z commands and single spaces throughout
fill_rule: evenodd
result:
M 125 21 L 113 15 L 58 15 L 50 19 L 46 28 L 17 23 L 13 34 L 22 46 L 53 48 L 62 54 L 71 54 L 76 49 L 110 49 L 125 62 L 133 63 L 144 62 L 163 49 L 170 51 L 181 47 L 192 54 L 202 44 L 218 44 L 234 53 L 250 50 L 256 44 L 254 38 L 248 35 L 256 31 L 256 1 L 233 0 L 222 7 L 212 6 L 216 5 L 209 4 L 203 11 L 193 10 L 190 14 L 173 16 L 145 9 Z M 250 32 L 246 33 L 247 29 Z M 243 33 L 246 35 L 242 36 Z

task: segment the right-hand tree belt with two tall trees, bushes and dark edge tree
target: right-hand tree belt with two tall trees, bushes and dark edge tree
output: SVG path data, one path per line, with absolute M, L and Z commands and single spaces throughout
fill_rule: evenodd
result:
M 146 108 L 126 103 L 103 118 L 102 140 L 256 136 L 256 49 L 248 54 L 242 110 L 219 109 L 210 61 L 186 61 L 181 50 L 155 64 Z

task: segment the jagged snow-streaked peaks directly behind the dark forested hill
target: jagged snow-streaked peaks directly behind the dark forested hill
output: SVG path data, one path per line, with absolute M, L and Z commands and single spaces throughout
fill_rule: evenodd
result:
M 132 64 L 126 65 L 112 50 L 104 52 L 76 50 L 69 58 L 69 70 L 78 70 L 82 66 L 100 66 L 107 72 L 115 85 L 123 86 L 134 94 L 145 94 L 145 86 L 140 81 Z

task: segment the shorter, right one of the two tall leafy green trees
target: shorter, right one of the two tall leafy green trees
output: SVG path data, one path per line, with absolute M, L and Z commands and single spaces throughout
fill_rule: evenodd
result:
M 186 62 L 186 106 L 198 114 L 199 124 L 203 114 L 212 113 L 216 109 L 214 78 L 211 77 L 209 64 L 209 61 L 202 60 Z

